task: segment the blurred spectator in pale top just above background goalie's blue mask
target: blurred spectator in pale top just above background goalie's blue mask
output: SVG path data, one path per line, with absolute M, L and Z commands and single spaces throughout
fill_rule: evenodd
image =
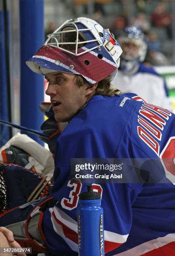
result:
M 145 13 L 138 13 L 136 18 L 131 18 L 130 23 L 133 26 L 140 27 L 144 33 L 147 33 L 150 29 L 150 22 Z

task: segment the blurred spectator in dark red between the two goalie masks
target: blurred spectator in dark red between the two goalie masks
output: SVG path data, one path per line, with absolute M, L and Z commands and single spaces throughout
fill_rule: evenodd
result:
M 120 36 L 120 33 L 123 31 L 125 26 L 127 25 L 127 20 L 120 16 L 117 17 L 112 24 L 112 27 L 110 28 L 110 31 L 114 34 L 115 38 Z

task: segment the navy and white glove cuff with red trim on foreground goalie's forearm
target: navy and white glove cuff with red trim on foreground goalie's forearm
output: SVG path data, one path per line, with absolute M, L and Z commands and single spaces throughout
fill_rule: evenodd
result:
M 42 232 L 42 219 L 45 210 L 56 202 L 53 197 L 44 197 L 15 207 L 0 215 L 0 226 L 11 230 L 21 247 L 32 247 L 32 253 L 49 253 Z

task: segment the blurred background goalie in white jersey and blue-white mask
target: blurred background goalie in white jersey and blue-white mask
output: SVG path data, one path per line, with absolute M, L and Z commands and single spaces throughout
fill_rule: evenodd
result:
M 165 79 L 153 67 L 142 63 L 147 52 L 147 42 L 141 29 L 127 26 L 118 41 L 123 52 L 117 78 L 112 84 L 119 90 L 134 92 L 146 102 L 172 111 Z

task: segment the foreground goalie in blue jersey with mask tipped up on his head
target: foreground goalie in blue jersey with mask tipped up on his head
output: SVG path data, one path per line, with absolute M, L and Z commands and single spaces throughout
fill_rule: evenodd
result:
M 16 207 L 0 218 L 0 225 L 33 252 L 78 254 L 78 194 L 86 184 L 70 179 L 70 159 L 159 157 L 164 160 L 151 171 L 162 175 L 164 183 L 97 183 L 93 189 L 102 194 L 107 256 L 175 251 L 175 118 L 110 85 L 121 53 L 109 31 L 77 18 L 63 23 L 27 61 L 48 81 L 46 93 L 57 122 L 69 121 L 56 142 L 52 197 Z

